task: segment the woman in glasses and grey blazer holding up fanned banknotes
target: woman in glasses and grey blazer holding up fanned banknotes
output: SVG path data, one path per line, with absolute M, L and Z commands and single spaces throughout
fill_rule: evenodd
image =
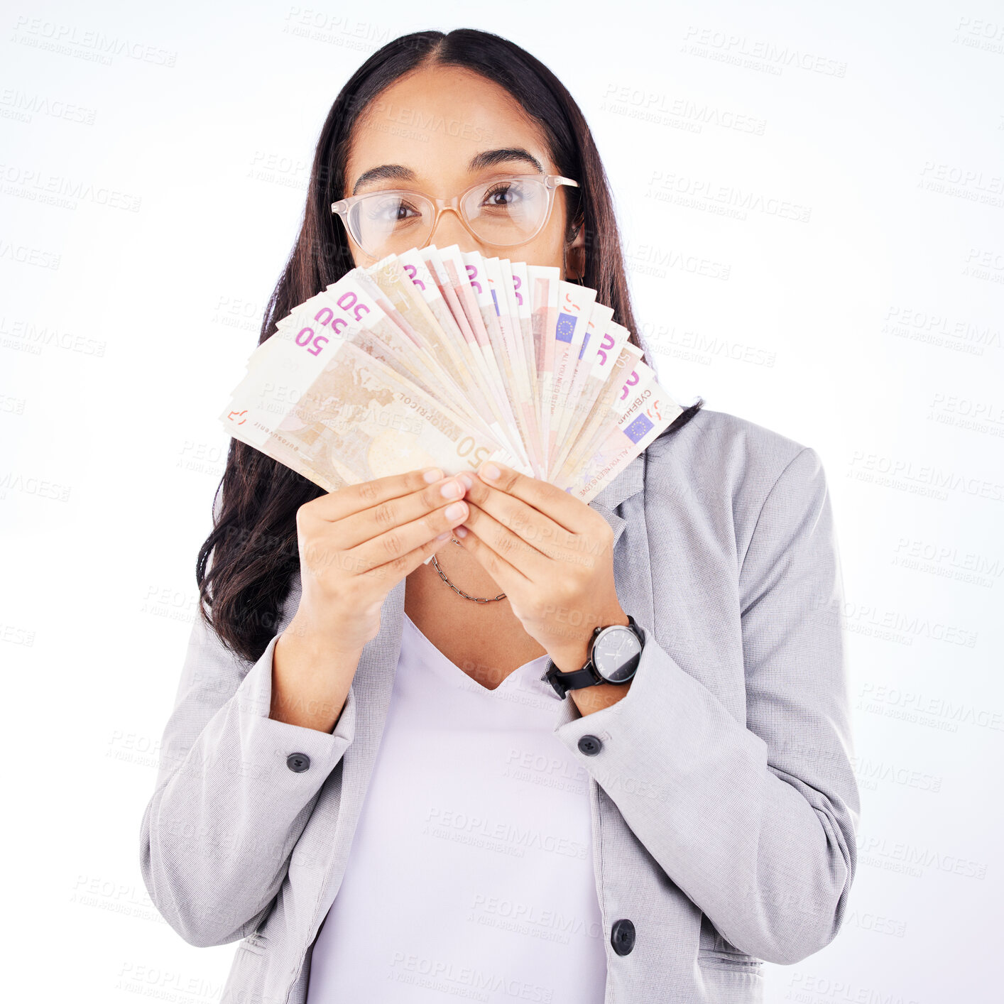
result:
M 634 330 L 578 107 L 458 30 L 338 95 L 262 340 L 387 252 L 332 204 L 528 174 L 578 185 L 520 246 L 414 232 L 557 265 Z M 186 941 L 241 940 L 224 1000 L 756 1001 L 835 937 L 858 799 L 811 448 L 699 401 L 588 505 L 504 467 L 327 494 L 236 441 L 222 487 L 142 867 Z

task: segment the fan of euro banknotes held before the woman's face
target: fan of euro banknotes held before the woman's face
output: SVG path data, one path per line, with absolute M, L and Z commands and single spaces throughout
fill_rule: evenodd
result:
M 588 502 L 682 409 L 559 275 L 457 245 L 353 268 L 277 322 L 220 420 L 329 492 L 498 460 Z

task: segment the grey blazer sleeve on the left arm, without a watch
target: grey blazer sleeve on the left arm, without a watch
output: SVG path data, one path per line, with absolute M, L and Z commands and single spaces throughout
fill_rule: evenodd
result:
M 197 615 L 141 826 L 143 880 L 192 945 L 237 941 L 271 909 L 325 778 L 355 733 L 270 719 L 276 635 L 251 665 Z M 292 754 L 305 754 L 287 763 Z M 294 770 L 293 767 L 300 769 Z

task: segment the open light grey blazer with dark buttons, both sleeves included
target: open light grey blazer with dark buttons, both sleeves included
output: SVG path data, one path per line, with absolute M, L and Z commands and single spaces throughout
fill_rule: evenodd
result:
M 586 716 L 566 699 L 554 729 L 589 775 L 604 1000 L 761 1001 L 763 960 L 800 962 L 835 937 L 856 864 L 842 577 L 819 456 L 703 410 L 590 505 L 614 531 L 620 604 L 647 632 L 628 694 Z M 299 589 L 296 576 L 253 665 L 197 620 L 141 827 L 167 922 L 192 945 L 240 942 L 232 1004 L 306 999 L 401 647 L 404 580 L 333 733 L 270 719 L 272 650 Z

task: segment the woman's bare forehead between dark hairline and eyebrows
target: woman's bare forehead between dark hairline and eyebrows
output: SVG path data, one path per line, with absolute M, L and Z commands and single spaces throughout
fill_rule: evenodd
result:
M 359 115 L 345 165 L 344 194 L 351 193 L 363 172 L 401 165 L 415 173 L 410 185 L 451 195 L 479 175 L 509 170 L 500 165 L 472 173 L 468 164 L 475 154 L 518 147 L 545 171 L 555 171 L 543 131 L 508 91 L 469 70 L 428 67 L 385 88 Z M 534 171 L 525 162 L 511 170 Z

